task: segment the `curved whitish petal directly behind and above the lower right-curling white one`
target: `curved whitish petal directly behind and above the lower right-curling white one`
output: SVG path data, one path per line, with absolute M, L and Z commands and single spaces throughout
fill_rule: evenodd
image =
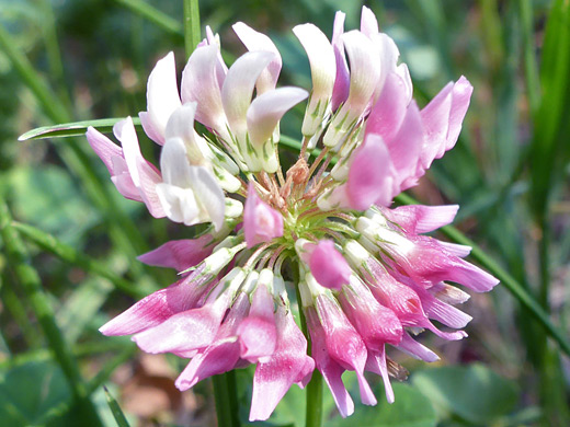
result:
M 236 60 L 221 88 L 221 102 L 229 126 L 238 140 L 247 132 L 246 114 L 261 71 L 275 57 L 270 51 L 249 51 Z

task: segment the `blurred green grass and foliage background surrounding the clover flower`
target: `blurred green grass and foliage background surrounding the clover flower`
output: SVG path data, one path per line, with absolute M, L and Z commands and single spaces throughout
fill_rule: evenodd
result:
M 308 60 L 290 28 L 312 22 L 330 36 L 337 10 L 346 13 L 346 30 L 356 28 L 363 4 L 400 48 L 420 107 L 461 74 L 475 86 L 457 146 L 410 194 L 459 204 L 455 227 L 512 282 L 465 304 L 474 316 L 468 339 L 422 336 L 440 362 L 398 356 L 411 374 L 395 385 L 394 405 L 374 380 L 379 405 L 342 420 L 326 391 L 326 425 L 569 426 L 568 356 L 525 307 L 542 308 L 568 339 L 570 4 L 202 0 L 200 9 L 227 64 L 244 53 L 231 31 L 243 21 L 277 45 L 280 84 L 309 88 Z M 132 426 L 216 425 L 209 381 L 184 393 L 174 388 L 184 360 L 145 355 L 128 337 L 98 332 L 174 281 L 174 273 L 136 256 L 192 231 L 123 199 L 84 137 L 18 141 L 39 126 L 145 111 L 148 74 L 170 50 L 180 79 L 182 14 L 182 1 L 0 0 L 2 426 L 113 426 L 118 406 Z M 301 119 L 303 106 L 285 116 L 282 132 L 299 139 Z M 145 157 L 158 160 L 158 146 L 139 138 Z M 237 372 L 243 425 L 251 376 Z M 107 403 L 103 385 L 116 401 Z M 294 386 L 258 425 L 301 426 L 304 404 Z

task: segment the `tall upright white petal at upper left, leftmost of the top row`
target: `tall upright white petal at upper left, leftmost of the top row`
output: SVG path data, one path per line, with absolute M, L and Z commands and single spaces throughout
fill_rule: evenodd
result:
M 148 118 L 155 130 L 149 134 L 149 137 L 156 142 L 164 143 L 167 122 L 180 105 L 174 54 L 169 53 L 157 62 L 147 84 Z

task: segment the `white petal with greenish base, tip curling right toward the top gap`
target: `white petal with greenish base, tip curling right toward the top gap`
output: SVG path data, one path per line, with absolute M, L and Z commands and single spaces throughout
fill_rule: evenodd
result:
M 309 94 L 299 88 L 280 88 L 258 96 L 248 109 L 248 132 L 253 146 L 265 142 L 283 115 Z

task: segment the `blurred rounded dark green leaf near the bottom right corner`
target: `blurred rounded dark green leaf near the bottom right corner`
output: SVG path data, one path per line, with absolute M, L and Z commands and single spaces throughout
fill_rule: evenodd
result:
M 508 415 L 518 401 L 515 382 L 479 363 L 419 371 L 412 383 L 444 413 L 478 425 Z

